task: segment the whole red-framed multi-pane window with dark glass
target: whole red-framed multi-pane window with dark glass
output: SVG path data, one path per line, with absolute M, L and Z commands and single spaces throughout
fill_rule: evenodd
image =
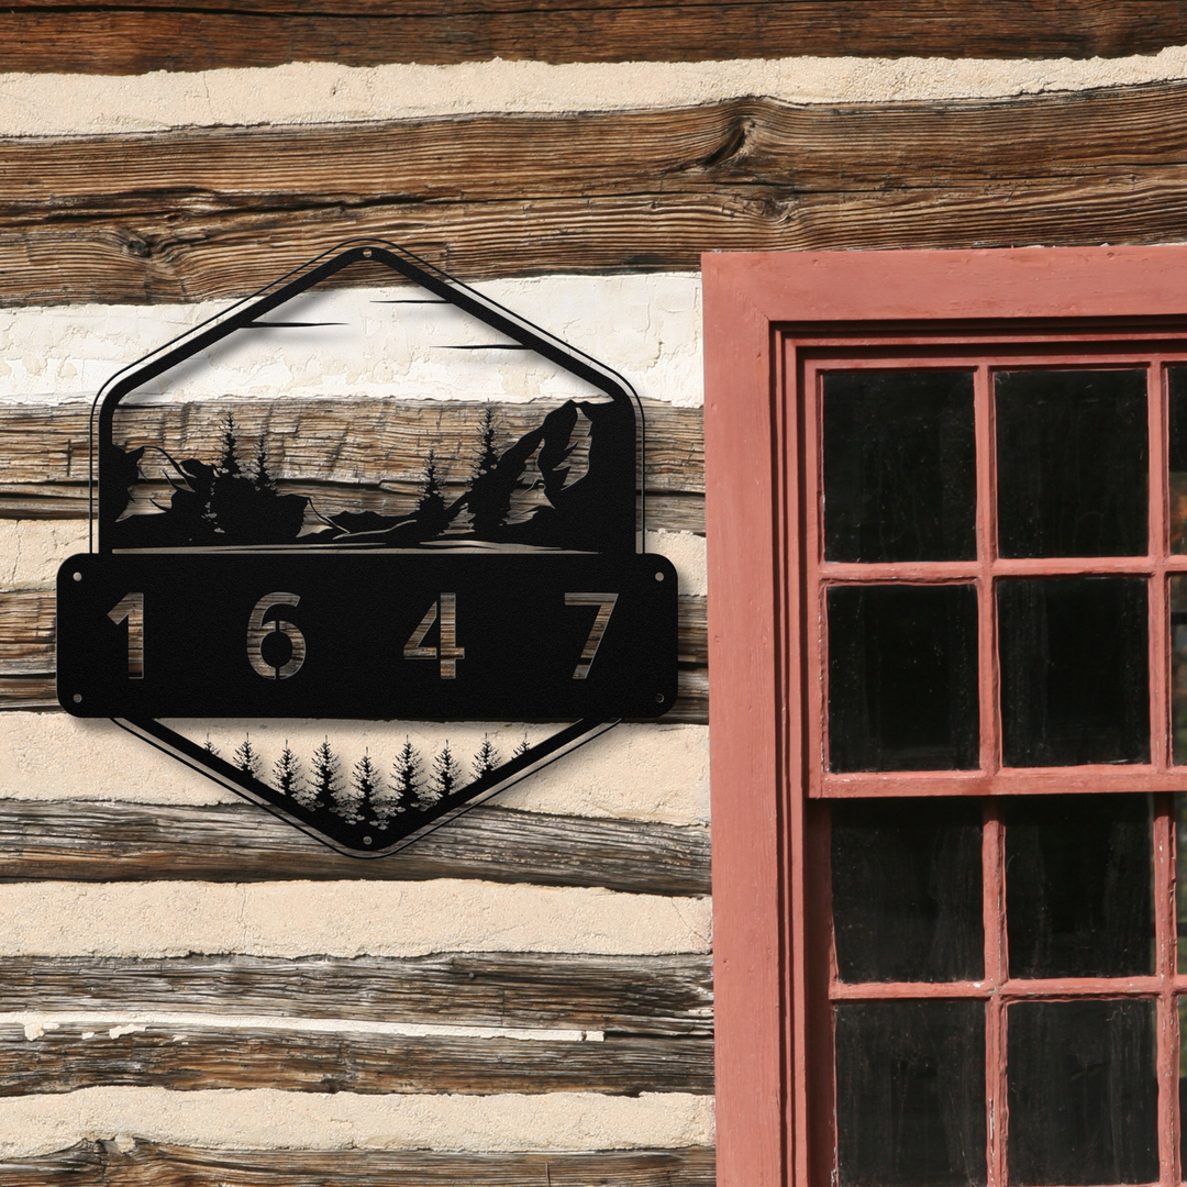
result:
M 726 1187 L 1183 1180 L 1176 286 L 706 258 Z

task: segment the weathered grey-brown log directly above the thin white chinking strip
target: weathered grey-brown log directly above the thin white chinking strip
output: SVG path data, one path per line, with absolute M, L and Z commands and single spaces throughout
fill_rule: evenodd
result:
M 5 957 L 9 1011 L 170 1011 L 696 1035 L 712 1030 L 711 958 L 554 953 L 284 960 Z

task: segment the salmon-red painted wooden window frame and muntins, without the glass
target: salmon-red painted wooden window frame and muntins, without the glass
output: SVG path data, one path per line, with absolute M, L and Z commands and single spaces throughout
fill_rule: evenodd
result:
M 1149 764 L 1002 770 L 994 754 L 992 703 L 983 698 L 979 772 L 825 774 L 820 589 L 830 572 L 846 575 L 814 559 L 814 373 L 830 360 L 848 367 L 862 355 L 906 362 L 1014 354 L 1083 366 L 1103 353 L 1115 360 L 1132 351 L 1148 361 L 1169 348 L 1176 360 L 1187 358 L 1187 247 L 715 254 L 704 258 L 704 278 L 718 1182 L 824 1187 L 832 1126 L 831 1110 L 819 1105 L 831 1099 L 831 1040 L 820 1011 L 830 997 L 849 996 L 850 986 L 838 986 L 830 973 L 829 920 L 820 909 L 827 903 L 827 818 L 812 801 L 853 794 L 1169 792 L 1182 786 L 1182 769 L 1167 767 L 1168 626 L 1166 599 L 1151 597 L 1151 660 L 1157 655 L 1150 668 L 1151 721 L 1166 728 L 1153 731 Z M 988 377 L 979 382 L 984 388 Z M 1150 396 L 1151 414 L 1161 418 L 1161 386 Z M 988 407 L 988 399 L 978 402 L 979 420 Z M 1151 443 L 1161 443 L 1161 419 L 1154 425 Z M 979 450 L 988 449 L 986 430 L 978 424 Z M 1151 457 L 1151 465 L 1153 472 L 1164 470 L 1161 456 Z M 988 481 L 988 472 L 979 468 L 978 482 Z M 1150 500 L 1151 535 L 1164 541 L 1161 484 L 1151 484 Z M 991 500 L 979 497 L 978 506 L 984 540 Z M 984 547 L 978 556 L 976 572 L 970 566 L 961 572 L 970 570 L 983 589 L 995 566 L 1001 573 L 1032 564 L 1010 561 L 1003 569 Z M 1182 560 L 1155 550 L 1132 558 L 1132 565 L 1113 560 L 1104 567 L 1161 580 Z M 868 578 L 868 566 L 859 567 Z M 904 576 L 903 566 L 894 567 L 895 576 Z M 1083 571 L 1084 564 L 1075 567 Z M 1058 563 L 1040 561 L 1026 571 L 1056 569 Z M 992 616 L 982 617 L 982 675 L 990 679 L 984 660 L 992 654 Z M 1173 888 L 1169 801 L 1168 795 L 1156 800 L 1155 857 L 1159 884 Z M 989 902 L 999 890 L 1001 845 L 992 801 L 986 802 Z M 985 921 L 985 994 L 1001 1002 L 1024 986 L 1004 982 L 999 913 Z M 1161 895 L 1157 975 L 1128 989 L 1163 998 L 1163 1022 L 1174 989 L 1187 986 L 1179 985 L 1182 978 L 1170 965 L 1173 928 L 1173 896 Z M 940 992 L 952 996 L 953 988 Z M 861 996 L 869 996 L 868 986 Z M 994 1042 L 992 1024 L 988 1040 Z M 1159 1052 L 1161 1161 L 1173 1168 L 1164 1172 L 1167 1182 L 1178 1183 L 1168 1035 L 1160 1036 Z M 989 1091 L 992 1097 L 992 1085 Z M 991 1168 L 991 1183 L 1003 1182 L 1003 1169 Z

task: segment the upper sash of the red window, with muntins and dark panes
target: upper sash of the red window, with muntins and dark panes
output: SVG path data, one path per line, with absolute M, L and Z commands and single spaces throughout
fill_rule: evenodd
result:
M 1091 774 L 1099 791 L 1178 787 L 1167 741 L 1173 717 L 1187 740 L 1187 583 L 1170 579 L 1176 572 L 1187 576 L 1187 553 L 1173 551 L 1178 538 L 1187 538 L 1187 363 L 1182 357 L 1161 348 L 1143 356 L 1126 354 L 1123 348 L 1103 358 L 1049 354 L 1036 362 L 1033 354 L 1008 349 L 972 354 L 950 348 L 941 356 L 926 358 L 908 357 L 906 351 L 901 357 L 855 351 L 851 357 L 821 353 L 806 358 L 804 389 L 814 393 L 806 402 L 806 482 L 808 490 L 819 491 L 805 523 L 808 604 L 817 607 L 818 615 L 817 627 L 807 633 L 806 650 L 810 671 L 825 677 L 807 686 L 810 753 L 814 756 L 810 795 L 1021 794 L 1060 791 L 1067 774 Z M 838 425 L 869 429 L 877 420 L 871 408 L 881 393 L 896 410 L 883 437 L 894 438 L 895 425 L 903 423 L 912 424 L 912 439 L 921 442 L 928 439 L 929 431 L 939 439 L 942 429 L 961 458 L 970 419 L 970 410 L 956 394 L 961 383 L 972 393 L 976 556 L 963 557 L 958 547 L 958 526 L 965 513 L 941 510 L 937 514 L 941 520 L 947 516 L 948 527 L 933 529 L 933 542 L 939 538 L 957 544 L 944 550 L 931 547 L 922 559 L 920 548 L 907 560 L 850 559 L 852 547 L 844 552 L 832 544 L 838 534 L 850 542 L 858 537 L 867 541 L 904 538 L 901 525 L 914 514 L 903 512 L 903 507 L 912 512 L 912 489 L 928 490 L 933 499 L 940 491 L 946 507 L 959 506 L 959 494 L 942 493 L 959 493 L 964 463 L 945 466 L 934 451 L 925 450 L 915 464 L 915 471 L 927 471 L 923 477 L 913 471 L 914 477 L 908 474 L 902 478 L 903 466 L 883 464 L 883 455 L 894 450 L 877 439 L 876 431 L 871 431 L 872 438 L 868 432 L 845 456 L 845 449 L 837 447 L 838 438 L 830 440 L 830 425 L 834 433 Z M 937 392 L 950 394 L 940 399 Z M 830 407 L 833 399 L 845 406 L 844 414 Z M 907 407 L 912 400 L 914 411 Z M 1029 436 L 1018 425 L 1018 408 L 1028 401 L 1045 408 L 1039 417 L 1042 424 Z M 1140 413 L 1144 419 L 1140 420 Z M 1008 432 L 1002 432 L 1003 421 Z M 1179 453 L 1175 431 L 1182 438 Z M 1107 455 L 1098 456 L 1106 445 L 1116 453 L 1111 462 Z M 1172 470 L 1170 465 L 1183 469 Z M 1100 470 L 1107 470 L 1107 482 L 1094 477 Z M 839 499 L 829 490 L 830 475 L 837 474 L 849 480 Z M 857 483 L 857 495 L 852 491 L 855 474 L 864 475 L 865 484 Z M 1013 542 L 1008 541 L 1013 552 L 1045 554 L 1003 554 L 1002 520 L 1017 519 L 1018 500 L 1003 497 L 1011 474 L 1029 476 L 1018 482 L 1029 491 L 1030 502 L 1036 489 L 1055 491 L 1042 514 L 1033 515 L 1024 531 L 1011 529 Z M 852 508 L 862 506 L 869 515 L 875 506 L 869 490 L 891 489 L 895 475 L 900 481 L 891 501 L 893 531 L 883 531 L 877 522 L 855 527 Z M 1124 488 L 1122 495 L 1112 493 L 1118 485 Z M 904 487 L 908 495 L 902 495 Z M 1068 494 L 1066 487 L 1074 489 Z M 1173 502 L 1176 491 L 1182 496 L 1182 514 Z M 844 532 L 833 529 L 836 515 Z M 933 528 L 935 520 L 932 515 L 928 521 Z M 1023 539 L 1027 532 L 1029 542 Z M 1086 554 L 1071 556 L 1073 545 Z M 1117 551 L 1103 554 L 1099 550 L 1104 547 Z M 881 557 L 888 551 L 883 547 L 877 552 L 867 544 L 856 554 Z M 845 559 L 833 559 L 838 557 Z M 1056 582 L 1062 578 L 1080 580 Z M 1008 584 L 1011 580 L 1014 584 Z M 845 596 L 832 591 L 857 585 L 945 584 L 964 584 L 977 598 L 976 761 L 969 761 L 966 742 L 963 749 L 933 745 L 929 760 L 916 744 L 914 760 L 899 762 L 894 748 L 883 744 L 876 729 L 880 719 L 893 724 L 894 717 L 880 717 L 877 706 L 901 693 L 895 680 L 887 679 L 893 664 L 878 655 L 876 642 L 858 648 L 851 633 L 833 633 L 831 608 Z M 1176 610 L 1182 621 L 1175 620 L 1175 624 L 1182 629 L 1175 643 L 1170 601 L 1173 589 L 1180 586 L 1175 602 L 1182 605 Z M 1062 609 L 1053 618 L 1052 605 L 1077 602 L 1083 629 L 1077 633 L 1074 624 L 1065 622 L 1056 630 L 1061 637 L 1052 639 L 1049 623 L 1068 618 Z M 1059 660 L 1048 664 L 1041 677 L 1033 674 L 1034 665 L 1028 675 L 1017 662 L 1018 656 L 1029 654 L 1035 639 L 1053 646 Z M 1107 639 L 1107 655 L 1102 639 Z M 833 658 L 834 645 L 844 653 L 843 660 Z M 864 660 L 855 662 L 862 650 Z M 1178 683 L 1172 679 L 1172 660 Z M 1091 680 L 1084 679 L 1085 672 Z M 900 686 L 907 675 L 899 674 Z M 842 688 L 834 696 L 832 684 L 838 678 Z M 929 693 L 933 705 L 940 699 L 937 679 Z M 1014 681 L 1009 698 L 1007 679 Z M 926 681 L 920 686 L 927 691 Z M 1173 694 L 1173 690 L 1180 691 Z M 906 702 L 901 696 L 899 700 L 895 712 L 908 716 Z M 926 710 L 926 698 L 922 704 Z M 1023 711 L 1026 705 L 1030 707 Z M 966 722 L 967 712 L 958 709 L 959 697 L 950 703 L 948 715 Z M 834 710 L 840 711 L 839 717 Z M 1187 764 L 1185 744 L 1180 745 L 1180 766 Z

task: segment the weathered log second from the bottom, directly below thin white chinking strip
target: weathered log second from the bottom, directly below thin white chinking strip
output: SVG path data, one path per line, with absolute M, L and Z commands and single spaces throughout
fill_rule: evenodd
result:
M 110 1029 L 115 1037 L 97 1022 L 62 1022 L 31 1041 L 24 1027 L 0 1026 L 0 1097 L 99 1085 L 470 1096 L 713 1091 L 713 1043 L 703 1037 L 557 1042 L 189 1024 Z

